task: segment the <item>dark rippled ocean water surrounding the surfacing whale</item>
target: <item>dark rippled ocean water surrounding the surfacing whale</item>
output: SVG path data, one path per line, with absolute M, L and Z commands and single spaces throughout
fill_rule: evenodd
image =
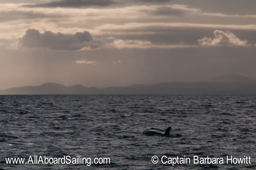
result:
M 255 113 L 253 95 L 1 95 L 0 168 L 256 169 Z M 169 136 L 142 134 L 168 126 Z

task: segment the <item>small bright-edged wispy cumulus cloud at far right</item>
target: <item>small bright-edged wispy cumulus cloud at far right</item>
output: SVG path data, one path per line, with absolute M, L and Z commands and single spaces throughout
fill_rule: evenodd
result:
M 202 39 L 199 39 L 200 45 L 206 45 L 206 46 L 243 46 L 243 47 L 249 47 L 251 44 L 248 43 L 247 40 L 241 41 L 239 38 L 236 37 L 233 33 L 230 31 L 214 31 L 215 38 L 207 38 L 204 37 Z

